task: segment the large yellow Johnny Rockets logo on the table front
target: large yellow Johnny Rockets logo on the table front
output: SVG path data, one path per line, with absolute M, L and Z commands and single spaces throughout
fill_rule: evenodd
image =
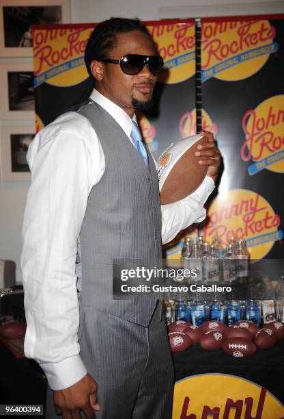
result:
M 204 392 L 204 389 L 210 391 Z M 227 374 L 199 374 L 175 383 L 173 419 L 279 419 L 284 407 L 266 388 Z

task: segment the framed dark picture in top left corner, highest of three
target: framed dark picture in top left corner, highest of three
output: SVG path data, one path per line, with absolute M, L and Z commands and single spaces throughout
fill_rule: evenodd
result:
M 0 0 L 0 56 L 31 57 L 31 25 L 71 23 L 70 0 Z

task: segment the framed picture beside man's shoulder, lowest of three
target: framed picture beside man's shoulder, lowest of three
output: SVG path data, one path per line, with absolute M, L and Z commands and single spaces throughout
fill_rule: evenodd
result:
M 29 181 L 27 149 L 35 136 L 31 126 L 1 127 L 1 160 L 3 181 Z

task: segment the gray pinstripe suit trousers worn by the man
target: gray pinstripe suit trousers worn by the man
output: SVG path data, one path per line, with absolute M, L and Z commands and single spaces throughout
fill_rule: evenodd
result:
M 161 304 L 149 327 L 92 307 L 81 309 L 80 355 L 98 383 L 96 418 L 171 419 L 173 363 Z M 59 418 L 50 389 L 46 418 Z

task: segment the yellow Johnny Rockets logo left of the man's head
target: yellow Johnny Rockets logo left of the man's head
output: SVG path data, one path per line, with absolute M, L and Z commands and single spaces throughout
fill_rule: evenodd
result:
M 87 78 L 84 52 L 93 28 L 35 29 L 33 31 L 34 86 L 73 86 Z

